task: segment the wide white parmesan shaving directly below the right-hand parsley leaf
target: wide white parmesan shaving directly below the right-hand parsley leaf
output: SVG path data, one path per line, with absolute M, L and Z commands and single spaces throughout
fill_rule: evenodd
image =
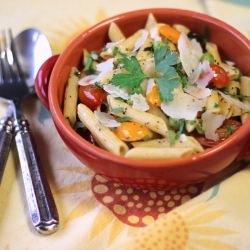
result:
M 161 109 L 172 118 L 194 120 L 198 111 L 202 111 L 204 103 L 204 100 L 199 100 L 184 92 L 178 92 L 173 101 L 163 102 Z

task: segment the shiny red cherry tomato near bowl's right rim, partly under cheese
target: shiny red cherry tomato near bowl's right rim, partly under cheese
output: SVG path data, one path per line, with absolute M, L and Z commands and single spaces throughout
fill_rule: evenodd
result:
M 210 81 L 211 84 L 217 88 L 224 88 L 229 84 L 227 72 L 217 64 L 210 64 L 211 69 L 214 71 L 214 77 Z

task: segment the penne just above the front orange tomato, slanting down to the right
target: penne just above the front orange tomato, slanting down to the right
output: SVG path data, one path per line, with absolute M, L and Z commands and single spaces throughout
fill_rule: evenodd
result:
M 131 121 L 138 122 L 140 124 L 145 125 L 152 131 L 166 137 L 168 127 L 166 122 L 159 116 L 140 111 L 137 109 L 133 109 L 127 103 L 117 100 L 111 95 L 107 96 L 107 101 L 109 104 L 110 112 L 120 117 L 129 117 Z M 122 112 L 113 113 L 112 110 L 122 109 Z

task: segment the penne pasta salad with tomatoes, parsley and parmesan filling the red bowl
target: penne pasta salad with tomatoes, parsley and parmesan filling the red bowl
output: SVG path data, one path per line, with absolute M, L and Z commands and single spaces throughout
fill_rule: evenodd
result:
M 200 153 L 249 117 L 250 77 L 222 60 L 206 34 L 158 23 L 125 37 L 116 23 L 100 51 L 83 49 L 72 68 L 63 114 L 91 143 L 128 158 Z

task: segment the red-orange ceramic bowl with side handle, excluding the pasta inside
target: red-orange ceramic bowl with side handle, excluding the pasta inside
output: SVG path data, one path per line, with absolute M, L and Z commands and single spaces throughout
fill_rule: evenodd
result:
M 149 13 L 153 13 L 159 22 L 184 24 L 201 34 L 207 27 L 209 40 L 218 45 L 222 57 L 234 61 L 243 74 L 250 75 L 249 40 L 231 26 L 191 11 L 146 9 L 112 17 L 81 33 L 59 57 L 52 57 L 41 67 L 37 75 L 37 94 L 49 107 L 65 144 L 83 164 L 95 172 L 137 188 L 162 189 L 202 182 L 249 153 L 250 119 L 230 138 L 195 156 L 178 160 L 135 160 L 113 155 L 90 144 L 69 126 L 62 114 L 65 84 L 71 67 L 81 65 L 83 48 L 102 48 L 108 41 L 107 31 L 111 22 L 116 22 L 125 35 L 132 34 L 144 27 Z

